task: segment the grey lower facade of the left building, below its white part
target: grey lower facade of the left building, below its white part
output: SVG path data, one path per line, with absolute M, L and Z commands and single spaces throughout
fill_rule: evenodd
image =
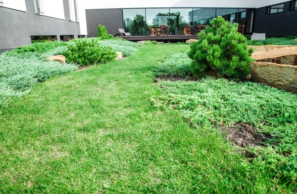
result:
M 80 35 L 80 25 L 69 21 L 68 0 L 63 0 L 65 20 L 37 15 L 34 1 L 25 0 L 27 12 L 0 7 L 0 52 L 31 44 L 31 36 Z

